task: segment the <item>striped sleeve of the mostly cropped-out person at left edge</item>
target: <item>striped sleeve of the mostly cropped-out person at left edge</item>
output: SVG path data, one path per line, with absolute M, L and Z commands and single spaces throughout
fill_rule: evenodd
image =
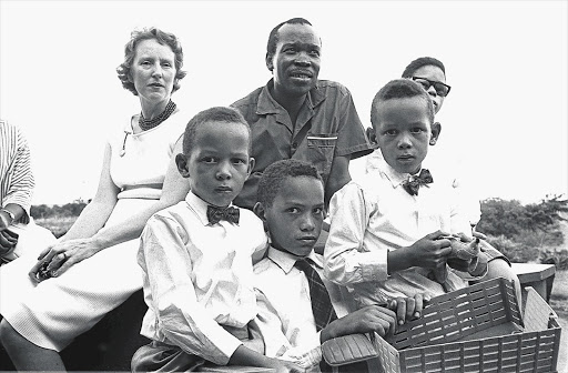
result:
M 28 147 L 28 141 L 20 130 L 17 130 L 16 133 L 18 135 L 18 149 L 16 151 L 10 183 L 2 201 L 2 206 L 6 206 L 9 203 L 20 205 L 26 211 L 26 214 L 20 218 L 20 222 L 27 224 L 30 221 L 31 198 L 36 183 L 31 170 L 30 148 Z

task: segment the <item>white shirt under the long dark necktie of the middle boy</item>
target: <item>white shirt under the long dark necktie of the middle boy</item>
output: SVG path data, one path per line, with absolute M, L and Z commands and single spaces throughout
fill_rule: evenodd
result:
M 338 286 L 323 276 L 322 256 L 312 251 L 308 258 L 329 293 L 337 316 L 345 315 L 347 305 Z M 254 265 L 258 315 L 251 325 L 260 331 L 266 356 L 293 361 L 310 372 L 320 372 L 321 333 L 315 326 L 308 281 L 294 266 L 297 259 L 270 248 L 267 258 Z

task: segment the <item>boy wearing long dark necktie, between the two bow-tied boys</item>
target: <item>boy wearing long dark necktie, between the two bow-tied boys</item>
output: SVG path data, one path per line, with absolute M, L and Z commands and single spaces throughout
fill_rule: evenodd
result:
M 324 186 L 314 167 L 297 160 L 271 164 L 260 180 L 257 201 L 254 211 L 271 246 L 254 266 L 258 315 L 252 325 L 267 356 L 318 371 L 326 340 L 373 331 L 384 336 L 394 330 L 395 313 L 377 305 L 337 319 L 347 304 L 338 286 L 323 278 L 322 256 L 313 251 L 324 219 Z M 422 311 L 422 296 L 416 301 L 410 313 Z M 365 365 L 351 369 L 361 372 Z

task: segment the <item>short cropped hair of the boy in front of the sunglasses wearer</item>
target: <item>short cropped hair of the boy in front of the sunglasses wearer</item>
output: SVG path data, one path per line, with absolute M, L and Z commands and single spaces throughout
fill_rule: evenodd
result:
M 378 105 L 382 102 L 393 99 L 409 99 L 417 97 L 426 102 L 426 110 L 428 112 L 428 120 L 430 124 L 434 123 L 434 103 L 426 90 L 417 82 L 410 79 L 396 79 L 392 80 L 383 87 L 371 104 L 371 124 L 374 129 L 378 125 Z

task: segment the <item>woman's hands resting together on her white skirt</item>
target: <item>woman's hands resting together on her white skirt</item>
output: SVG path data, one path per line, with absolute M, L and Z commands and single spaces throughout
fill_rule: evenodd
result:
M 36 282 L 60 276 L 72 265 L 91 258 L 102 249 L 103 246 L 93 239 L 59 241 L 41 252 L 29 276 Z

